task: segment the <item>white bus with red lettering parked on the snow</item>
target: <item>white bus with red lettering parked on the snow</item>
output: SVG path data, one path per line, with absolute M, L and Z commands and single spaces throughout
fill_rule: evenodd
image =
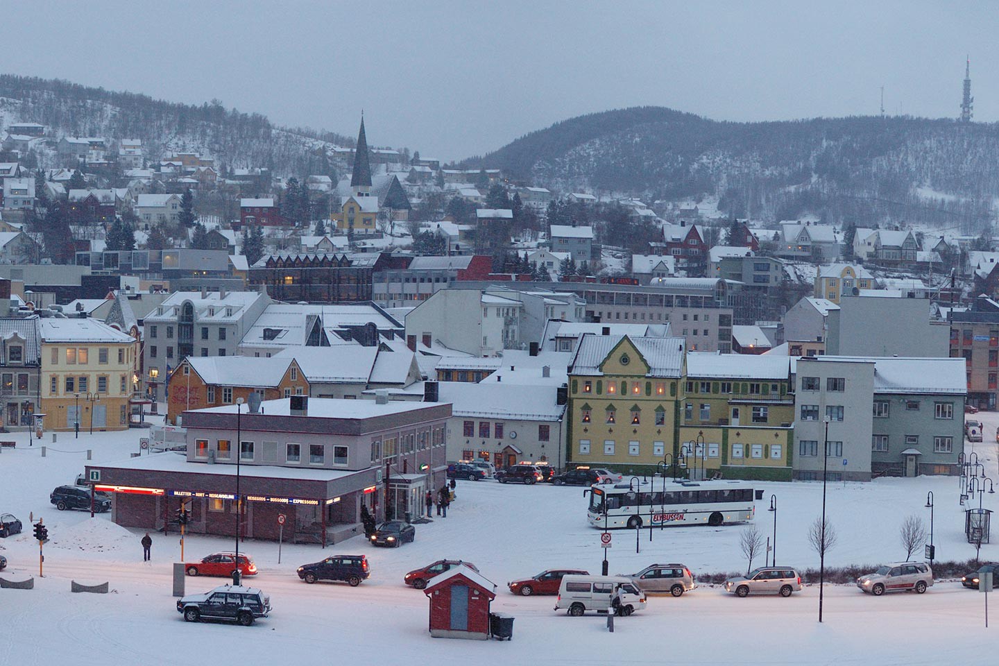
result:
M 589 524 L 600 529 L 700 525 L 752 520 L 763 497 L 747 481 L 604 483 L 589 490 Z

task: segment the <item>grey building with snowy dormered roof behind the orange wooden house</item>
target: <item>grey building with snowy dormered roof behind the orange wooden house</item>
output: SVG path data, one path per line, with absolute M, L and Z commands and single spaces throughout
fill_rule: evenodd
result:
M 186 356 L 232 356 L 271 304 L 261 292 L 177 292 L 143 320 L 143 369 L 152 399 Z

